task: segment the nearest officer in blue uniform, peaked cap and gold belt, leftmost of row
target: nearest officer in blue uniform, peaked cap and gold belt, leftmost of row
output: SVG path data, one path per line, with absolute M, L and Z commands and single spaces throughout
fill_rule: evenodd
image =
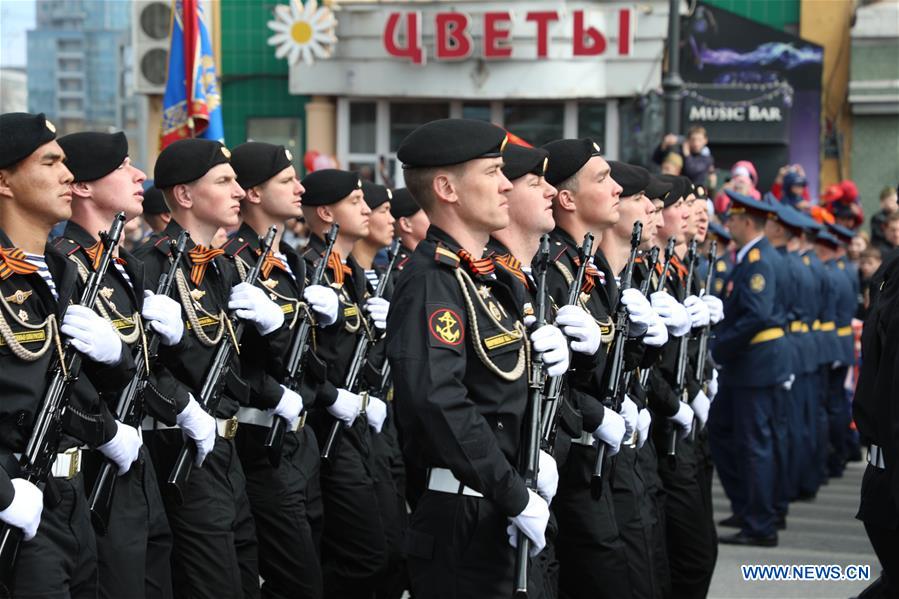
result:
M 728 326 L 712 343 L 721 381 L 709 432 L 740 532 L 720 541 L 773 547 L 778 390 L 791 374 L 778 289 L 783 261 L 764 236 L 771 206 L 742 194 L 728 195 L 728 225 L 739 250 L 725 288 Z

